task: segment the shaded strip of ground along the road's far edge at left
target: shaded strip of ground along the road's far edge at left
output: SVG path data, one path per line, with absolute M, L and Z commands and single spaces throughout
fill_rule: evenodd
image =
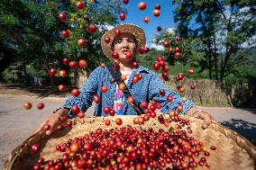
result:
M 1 94 L 37 95 L 39 97 L 67 97 L 74 87 L 67 86 L 64 92 L 59 91 L 58 85 L 22 85 L 0 84 Z

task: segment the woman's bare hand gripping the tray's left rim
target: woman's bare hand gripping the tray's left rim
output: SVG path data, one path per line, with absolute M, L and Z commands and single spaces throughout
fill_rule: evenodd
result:
M 43 130 L 45 125 L 50 125 L 50 130 L 46 131 L 47 135 L 50 135 L 59 125 L 61 117 L 67 117 L 69 115 L 69 110 L 61 108 L 57 112 L 50 114 L 44 121 L 41 122 L 41 125 L 35 130 L 34 133 L 38 133 L 39 131 Z

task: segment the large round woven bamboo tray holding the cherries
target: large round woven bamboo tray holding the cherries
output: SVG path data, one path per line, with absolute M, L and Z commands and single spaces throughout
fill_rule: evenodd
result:
M 168 115 L 164 115 L 168 116 Z M 121 126 L 117 126 L 114 120 L 120 117 L 123 120 Z M 210 157 L 207 162 L 211 164 L 210 169 L 255 169 L 256 166 L 256 148 L 247 139 L 244 139 L 238 133 L 222 125 L 212 124 L 206 130 L 202 130 L 202 120 L 187 115 L 180 116 L 184 120 L 190 121 L 189 127 L 193 130 L 192 134 L 195 139 L 199 139 L 208 148 Z M 169 130 L 175 125 L 171 122 L 169 128 L 166 128 L 156 119 L 145 121 L 142 125 L 133 124 L 134 116 L 114 116 L 114 117 L 94 117 L 84 118 L 83 120 L 75 119 L 72 128 L 57 130 L 52 135 L 46 136 L 44 132 L 39 132 L 26 139 L 22 145 L 14 149 L 8 159 L 5 161 L 5 170 L 23 170 L 32 169 L 39 157 L 46 161 L 50 159 L 61 158 L 63 153 L 56 151 L 55 147 L 76 137 L 84 136 L 88 131 L 94 131 L 98 128 L 110 130 L 116 127 L 131 125 L 133 127 L 141 126 L 143 129 L 152 128 L 153 130 Z M 110 126 L 105 126 L 104 119 L 111 120 Z M 37 155 L 32 155 L 30 148 L 34 143 L 41 144 L 41 151 Z M 209 149 L 215 146 L 216 150 Z M 197 169 L 209 169 L 206 166 L 197 166 Z

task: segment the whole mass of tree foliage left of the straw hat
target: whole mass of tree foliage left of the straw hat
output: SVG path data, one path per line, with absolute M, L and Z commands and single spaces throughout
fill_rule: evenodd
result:
M 1 77 L 8 67 L 21 63 L 20 71 L 28 76 L 26 66 L 48 73 L 50 67 L 65 68 L 62 58 L 87 60 L 90 71 L 105 61 L 100 39 L 104 25 L 114 25 L 117 13 L 123 9 L 120 1 L 87 1 L 82 10 L 76 1 L 8 1 L 0 4 L 0 70 Z M 67 14 L 67 22 L 59 22 L 58 13 Z M 94 34 L 87 32 L 87 25 L 95 23 Z M 60 31 L 69 30 L 69 39 L 60 37 Z M 78 39 L 87 40 L 87 46 L 78 47 Z

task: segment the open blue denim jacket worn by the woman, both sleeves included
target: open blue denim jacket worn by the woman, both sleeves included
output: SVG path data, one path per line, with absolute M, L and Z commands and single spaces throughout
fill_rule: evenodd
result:
M 133 76 L 142 74 L 142 79 L 139 80 L 136 84 L 133 84 Z M 83 112 L 86 112 L 87 109 L 93 103 L 93 95 L 97 94 L 101 103 L 96 104 L 95 116 L 106 116 L 103 112 L 103 109 L 108 106 L 112 108 L 113 105 L 113 96 L 116 84 L 111 83 L 110 79 L 113 76 L 110 74 L 106 67 L 96 67 L 96 69 L 88 77 L 87 82 L 80 88 L 80 94 L 78 97 L 69 97 L 64 103 L 65 108 L 71 109 L 74 105 L 78 105 L 79 109 Z M 107 86 L 108 90 L 105 94 L 101 92 L 101 87 Z M 157 74 L 148 68 L 138 67 L 133 69 L 132 75 L 130 76 L 127 87 L 130 93 L 133 95 L 134 102 L 138 107 L 141 107 L 142 101 L 150 102 L 154 100 L 161 104 L 160 111 L 163 113 L 169 113 L 171 110 L 175 110 L 179 104 L 183 106 L 183 111 L 181 113 L 187 113 L 187 111 L 194 107 L 194 103 L 190 100 L 187 100 L 185 103 L 182 103 L 182 97 L 178 92 L 173 91 L 167 87 L 163 81 L 160 79 Z M 165 90 L 165 95 L 160 95 L 160 90 Z M 167 101 L 167 96 L 171 95 L 173 97 L 172 102 Z M 136 115 L 136 111 L 133 109 L 133 106 L 128 103 L 126 100 L 123 103 L 123 114 L 127 115 Z M 142 108 L 140 108 L 143 110 Z M 69 115 L 72 115 L 72 112 L 69 112 Z

